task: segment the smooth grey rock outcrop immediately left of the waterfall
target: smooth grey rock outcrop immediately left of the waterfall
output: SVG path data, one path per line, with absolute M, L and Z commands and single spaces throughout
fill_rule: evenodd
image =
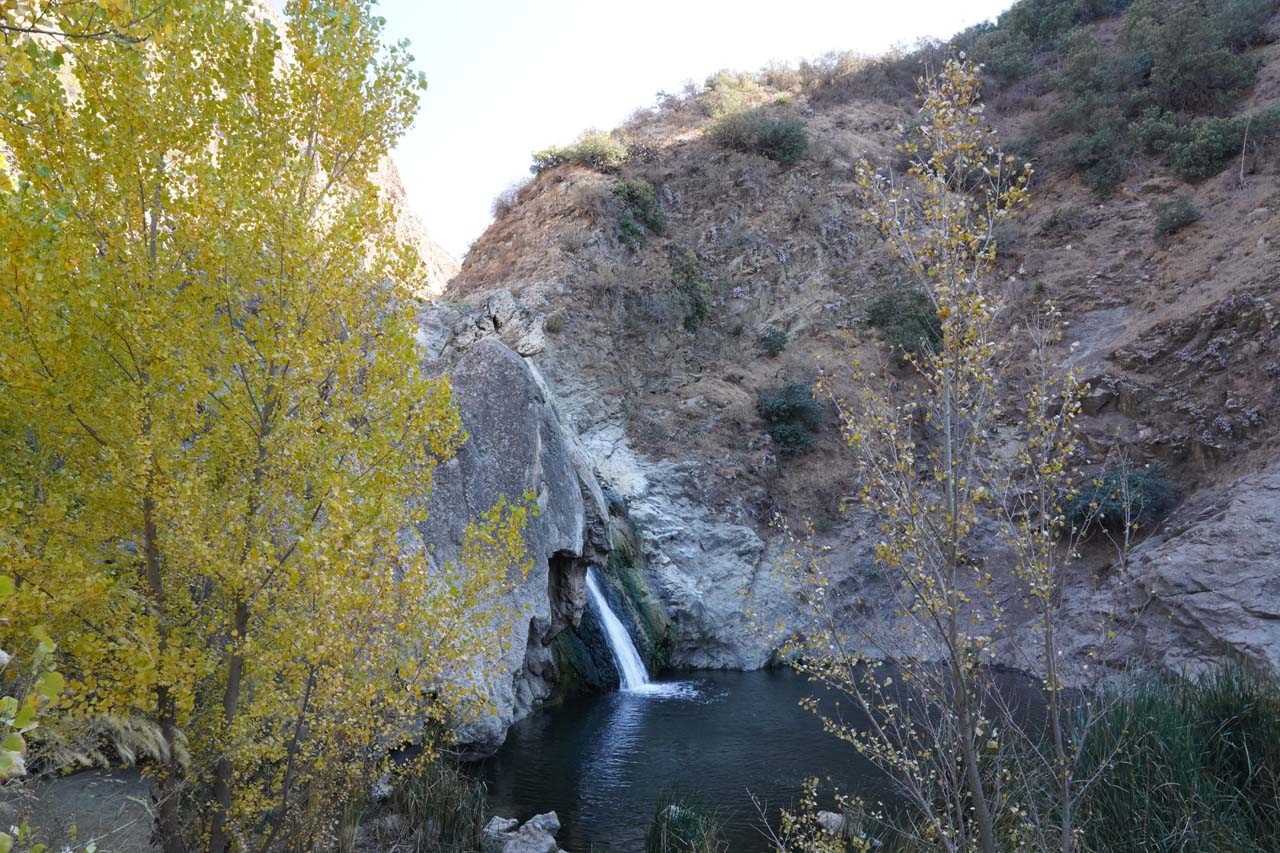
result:
M 531 365 L 488 338 L 461 353 L 448 373 L 468 439 L 436 469 L 421 528 L 434 558 L 456 558 L 467 523 L 500 497 L 532 494 L 538 503 L 525 535 L 532 570 L 504 602 L 508 651 L 488 688 L 493 713 L 461 731 L 474 752 L 485 753 L 502 744 L 512 721 L 550 695 L 552 642 L 581 620 L 586 566 L 604 558 L 608 532 L 599 488 Z

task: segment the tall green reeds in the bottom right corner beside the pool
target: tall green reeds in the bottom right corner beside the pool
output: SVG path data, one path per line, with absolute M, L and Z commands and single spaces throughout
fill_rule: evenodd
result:
M 1280 685 L 1236 669 L 1111 688 L 1085 740 L 1080 847 L 1263 853 L 1280 838 Z

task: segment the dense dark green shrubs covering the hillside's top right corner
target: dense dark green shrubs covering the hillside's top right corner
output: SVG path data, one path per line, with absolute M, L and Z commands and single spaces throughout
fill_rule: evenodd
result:
M 1036 6 L 1042 6 L 1038 13 Z M 1053 0 L 1015 4 L 995 31 L 970 37 L 974 49 L 979 42 L 1015 44 L 1015 32 L 1001 33 L 1018 22 L 1023 23 L 1016 32 L 1025 32 L 1033 42 L 1036 22 L 1046 32 L 1060 32 L 1061 10 L 1070 6 Z M 1277 8 L 1277 0 L 1076 4 L 1070 17 L 1074 28 L 1052 38 L 1062 47 L 1057 85 L 1068 99 L 1051 124 L 1075 134 L 1068 149 L 1071 168 L 1100 196 L 1124 179 L 1135 145 L 1165 154 L 1174 173 L 1187 181 L 1220 172 L 1242 152 L 1251 119 L 1220 115 L 1197 123 L 1193 115 L 1228 110 L 1253 85 L 1258 61 L 1245 51 L 1266 38 Z M 1125 10 L 1124 26 L 1115 44 L 1103 45 L 1080 27 L 1120 10 Z M 993 55 L 997 65 L 1019 60 L 1016 54 L 1007 60 L 1001 56 Z M 1257 127 L 1256 132 L 1261 141 L 1267 129 Z

